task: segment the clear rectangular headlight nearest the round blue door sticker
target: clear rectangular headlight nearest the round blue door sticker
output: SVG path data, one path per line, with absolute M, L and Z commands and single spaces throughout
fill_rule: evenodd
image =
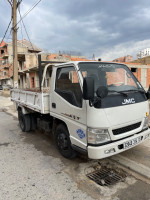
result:
M 100 144 L 110 141 L 108 129 L 88 128 L 87 134 L 88 143 L 90 144 Z

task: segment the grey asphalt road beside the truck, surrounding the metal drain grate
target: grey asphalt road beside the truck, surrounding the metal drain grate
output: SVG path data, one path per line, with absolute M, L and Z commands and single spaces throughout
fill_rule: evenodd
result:
M 0 200 L 150 200 L 150 185 L 130 173 L 114 186 L 93 183 L 87 172 L 99 164 L 118 166 L 109 159 L 67 160 L 51 135 L 22 133 L 17 118 L 5 111 L 0 104 Z

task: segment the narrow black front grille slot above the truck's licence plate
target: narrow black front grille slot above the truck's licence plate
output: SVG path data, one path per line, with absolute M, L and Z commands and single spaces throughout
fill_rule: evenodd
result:
M 141 125 L 141 122 L 138 122 L 136 124 L 131 124 L 129 126 L 125 126 L 125 127 L 122 127 L 122 128 L 118 128 L 118 129 L 114 129 L 112 130 L 113 134 L 114 135 L 119 135 L 119 134 L 122 134 L 122 133 L 126 133 L 126 132 L 129 132 L 129 131 L 132 131 L 136 128 L 139 128 Z

